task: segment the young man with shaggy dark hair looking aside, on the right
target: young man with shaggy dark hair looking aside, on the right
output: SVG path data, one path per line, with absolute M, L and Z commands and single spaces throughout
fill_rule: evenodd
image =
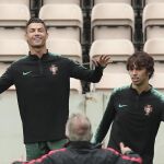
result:
M 141 155 L 143 164 L 153 164 L 155 137 L 164 121 L 164 96 L 149 84 L 154 60 L 147 52 L 136 52 L 127 70 L 132 83 L 112 93 L 94 142 L 102 142 L 113 122 L 108 147 L 119 151 L 122 141 Z

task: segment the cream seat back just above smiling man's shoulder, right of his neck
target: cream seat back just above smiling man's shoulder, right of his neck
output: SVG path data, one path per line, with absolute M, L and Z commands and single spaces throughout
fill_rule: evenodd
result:
M 51 52 L 82 62 L 82 48 L 75 39 L 48 39 L 47 47 Z

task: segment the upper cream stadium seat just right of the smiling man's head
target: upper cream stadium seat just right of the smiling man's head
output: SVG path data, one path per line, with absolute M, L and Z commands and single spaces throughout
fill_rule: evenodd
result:
M 83 20 L 79 5 L 45 4 L 40 8 L 39 17 L 49 27 L 50 37 L 81 40 Z

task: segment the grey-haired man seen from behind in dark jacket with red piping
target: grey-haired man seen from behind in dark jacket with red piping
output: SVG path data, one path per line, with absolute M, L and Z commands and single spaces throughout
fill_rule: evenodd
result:
M 70 140 L 67 148 L 55 150 L 40 159 L 13 164 L 142 164 L 142 160 L 129 148 L 120 143 L 122 154 L 114 149 L 93 145 L 92 127 L 82 114 L 72 114 L 68 119 L 66 134 Z

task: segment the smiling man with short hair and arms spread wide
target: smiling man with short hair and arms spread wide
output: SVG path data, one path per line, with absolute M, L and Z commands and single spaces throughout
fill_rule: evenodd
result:
M 94 61 L 89 70 L 46 48 L 47 27 L 31 19 L 25 37 L 28 56 L 13 62 L 0 78 L 0 93 L 15 85 L 27 160 L 37 159 L 67 141 L 65 126 L 69 116 L 70 78 L 98 82 L 109 56 Z M 63 47 L 65 48 L 65 47 Z

